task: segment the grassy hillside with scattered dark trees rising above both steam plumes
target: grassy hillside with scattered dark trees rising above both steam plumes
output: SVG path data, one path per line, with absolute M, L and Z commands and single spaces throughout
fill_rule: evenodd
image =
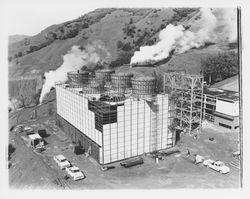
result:
M 198 9 L 97 9 L 78 19 L 52 25 L 39 34 L 9 45 L 10 78 L 43 74 L 62 64 L 73 45 L 101 41 L 110 53 L 105 63 L 129 63 L 135 50 L 152 45 L 169 23 L 188 23 Z M 17 58 L 15 58 L 17 57 Z

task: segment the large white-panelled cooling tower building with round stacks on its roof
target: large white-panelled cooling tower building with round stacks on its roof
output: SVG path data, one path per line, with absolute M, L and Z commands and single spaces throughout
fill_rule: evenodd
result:
M 99 164 L 174 146 L 169 95 L 155 78 L 106 69 L 68 79 L 55 85 L 58 125 Z

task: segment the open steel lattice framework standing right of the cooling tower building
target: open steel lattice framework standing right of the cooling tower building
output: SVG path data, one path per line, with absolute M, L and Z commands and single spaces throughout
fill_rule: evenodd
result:
M 164 93 L 169 94 L 169 119 L 189 135 L 202 125 L 203 76 L 176 72 L 164 75 Z

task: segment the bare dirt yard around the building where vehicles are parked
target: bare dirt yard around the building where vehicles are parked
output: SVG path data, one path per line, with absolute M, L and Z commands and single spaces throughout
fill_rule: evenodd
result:
M 51 125 L 52 124 L 52 125 Z M 217 132 L 204 129 L 197 139 L 181 135 L 178 142 L 180 153 L 163 157 L 157 164 L 149 154 L 144 156 L 144 164 L 124 168 L 114 163 L 113 169 L 101 171 L 100 166 L 84 154 L 73 152 L 71 140 L 49 120 L 35 121 L 29 124 L 46 129 L 48 136 L 46 150 L 35 153 L 21 139 L 21 134 L 10 132 L 10 143 L 16 148 L 10 160 L 10 186 L 46 187 L 56 189 L 165 189 L 165 188 L 239 188 L 240 170 L 230 166 L 231 161 L 238 161 L 232 153 L 238 150 L 239 136 L 237 132 Z M 211 139 L 213 138 L 213 139 Z M 191 154 L 199 154 L 205 158 L 221 160 L 230 167 L 228 174 L 195 165 L 187 157 L 187 149 Z M 65 170 L 61 170 L 53 157 L 63 154 L 71 164 L 79 167 L 86 178 L 74 181 L 66 179 Z

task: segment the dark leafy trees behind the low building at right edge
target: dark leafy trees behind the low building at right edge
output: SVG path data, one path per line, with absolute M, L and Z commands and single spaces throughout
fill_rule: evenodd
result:
M 208 84 L 238 74 L 238 56 L 235 52 L 219 53 L 201 61 L 201 70 Z

